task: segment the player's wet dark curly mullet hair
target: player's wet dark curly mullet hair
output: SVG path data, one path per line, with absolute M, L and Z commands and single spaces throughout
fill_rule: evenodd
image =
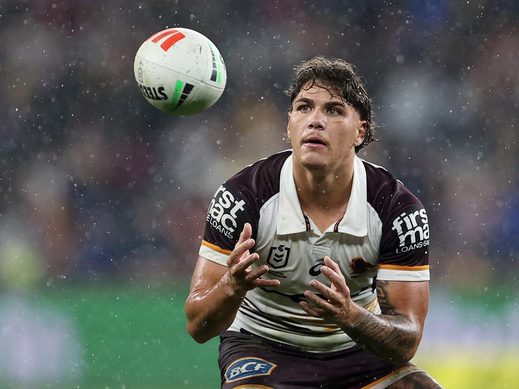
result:
M 353 70 L 353 65 L 339 58 L 327 58 L 322 55 L 303 61 L 294 69 L 294 82 L 285 91 L 290 96 L 290 104 L 301 92 L 301 89 L 310 89 L 314 85 L 325 88 L 330 94 L 342 96 L 345 102 L 351 104 L 359 113 L 360 119 L 366 121 L 366 135 L 362 144 L 355 146 L 355 152 L 373 141 L 376 124 L 372 120 L 371 99 L 360 77 Z

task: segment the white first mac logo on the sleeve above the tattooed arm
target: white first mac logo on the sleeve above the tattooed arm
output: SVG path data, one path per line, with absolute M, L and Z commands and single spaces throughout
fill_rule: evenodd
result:
M 410 213 L 402 212 L 393 220 L 391 229 L 400 240 L 397 253 L 406 253 L 429 245 L 429 220 L 425 209 Z

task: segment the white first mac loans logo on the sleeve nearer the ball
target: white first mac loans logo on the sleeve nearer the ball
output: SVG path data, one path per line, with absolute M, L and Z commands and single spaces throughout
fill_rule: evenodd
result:
M 209 204 L 206 220 L 227 238 L 233 239 L 234 232 L 238 228 L 238 212 L 245 210 L 243 205 L 245 205 L 244 200 L 237 200 L 233 193 L 220 185 Z

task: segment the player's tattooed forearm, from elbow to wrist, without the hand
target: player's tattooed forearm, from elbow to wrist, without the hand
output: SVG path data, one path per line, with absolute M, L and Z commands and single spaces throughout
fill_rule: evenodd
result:
M 342 329 L 363 349 L 403 365 L 411 359 L 421 339 L 420 329 L 405 315 L 376 315 L 357 305 Z

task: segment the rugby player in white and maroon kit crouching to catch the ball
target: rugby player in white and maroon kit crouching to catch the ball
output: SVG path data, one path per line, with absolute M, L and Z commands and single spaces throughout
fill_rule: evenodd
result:
M 429 304 L 427 214 L 385 169 L 352 66 L 296 68 L 293 149 L 215 193 L 186 300 L 197 342 L 220 335 L 222 388 L 441 388 L 409 363 Z

